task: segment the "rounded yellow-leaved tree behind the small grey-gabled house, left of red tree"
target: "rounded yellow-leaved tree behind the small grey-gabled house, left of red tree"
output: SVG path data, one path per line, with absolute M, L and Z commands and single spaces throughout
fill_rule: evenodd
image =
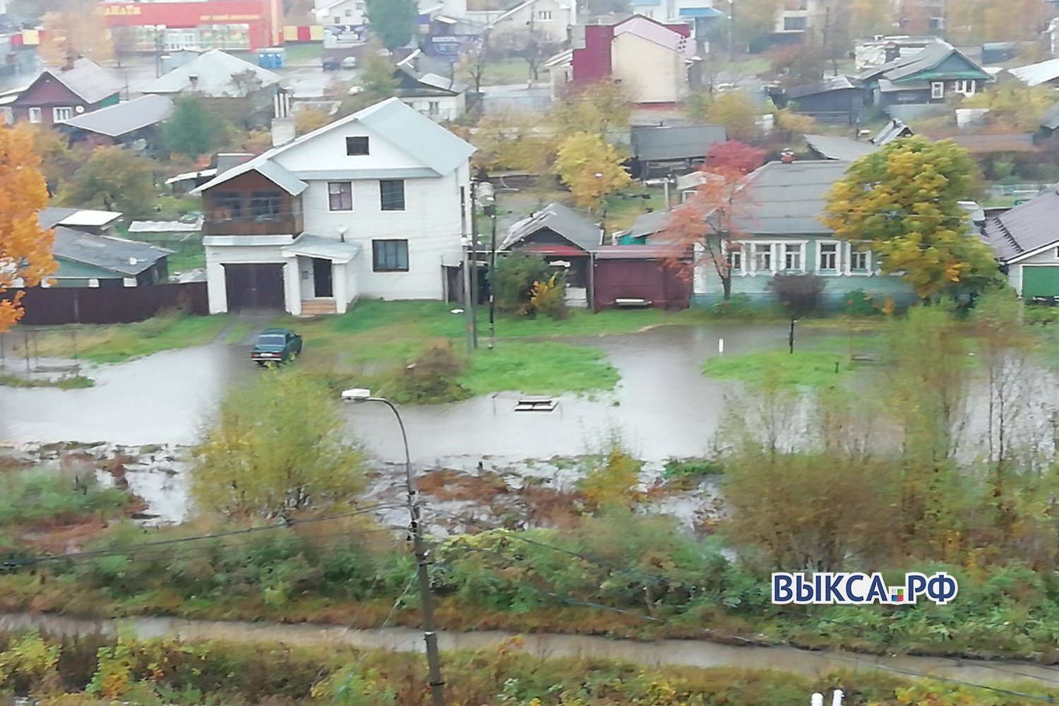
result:
M 625 156 L 598 134 L 577 132 L 559 145 L 555 170 L 577 204 L 598 209 L 604 199 L 632 183 Z

